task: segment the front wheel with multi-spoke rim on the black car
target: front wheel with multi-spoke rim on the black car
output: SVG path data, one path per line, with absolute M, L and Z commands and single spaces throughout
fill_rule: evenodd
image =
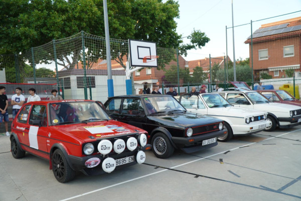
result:
M 152 138 L 153 152 L 159 158 L 170 157 L 175 150 L 175 147 L 169 138 L 162 132 L 156 133 Z

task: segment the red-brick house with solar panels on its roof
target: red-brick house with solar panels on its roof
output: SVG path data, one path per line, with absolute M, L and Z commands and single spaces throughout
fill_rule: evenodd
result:
M 249 44 L 250 66 L 254 78 L 268 73 L 272 78 L 286 77 L 285 70 L 293 69 L 296 76 L 300 73 L 300 44 L 301 44 L 301 17 L 262 24 L 252 34 L 253 59 L 251 36 L 245 41 Z

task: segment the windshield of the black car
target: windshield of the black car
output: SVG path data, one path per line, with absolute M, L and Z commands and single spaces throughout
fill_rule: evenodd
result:
M 149 114 L 186 111 L 186 109 L 170 95 L 145 97 L 144 103 Z

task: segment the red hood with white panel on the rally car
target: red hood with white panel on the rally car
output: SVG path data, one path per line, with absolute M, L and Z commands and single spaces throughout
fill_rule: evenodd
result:
M 144 131 L 141 128 L 128 125 L 126 123 L 122 123 L 115 120 L 109 121 L 97 121 L 91 123 L 78 123 L 78 124 L 63 124 L 63 125 L 55 125 L 52 126 L 56 130 L 60 130 L 65 134 L 70 134 L 75 137 L 78 137 L 82 140 L 91 141 L 94 136 L 95 138 L 99 137 L 113 137 L 118 135 L 124 134 L 131 134 L 131 133 L 141 133 Z

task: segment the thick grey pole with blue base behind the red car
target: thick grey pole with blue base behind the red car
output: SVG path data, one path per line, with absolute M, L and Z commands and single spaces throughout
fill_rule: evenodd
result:
M 114 86 L 112 79 L 112 66 L 111 66 L 111 52 L 110 52 L 110 35 L 109 35 L 109 22 L 108 22 L 108 9 L 107 0 L 103 0 L 103 15 L 104 15 L 104 32 L 105 32 L 105 47 L 107 58 L 107 71 L 108 71 L 108 96 L 114 96 Z

